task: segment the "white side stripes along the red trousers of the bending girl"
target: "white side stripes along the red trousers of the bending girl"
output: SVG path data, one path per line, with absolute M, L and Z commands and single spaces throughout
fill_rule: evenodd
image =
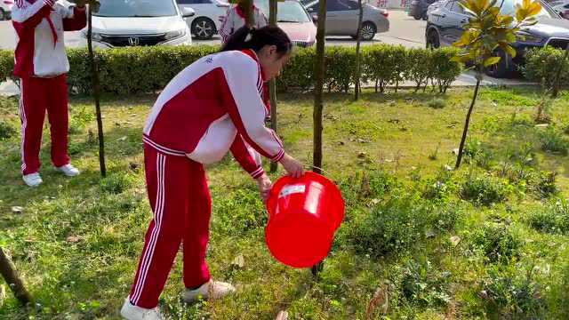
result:
M 148 259 L 151 256 L 150 251 L 154 250 L 153 247 L 156 244 L 157 230 L 160 227 L 159 212 L 160 212 L 160 208 L 162 206 L 162 203 L 164 201 L 164 193 L 161 189 L 161 183 L 160 183 L 160 181 L 163 179 L 162 178 L 162 168 L 163 168 L 162 155 L 160 155 L 160 153 L 156 153 L 156 175 L 157 175 L 156 193 L 157 193 L 157 195 L 156 195 L 156 206 L 154 208 L 154 228 L 152 230 L 152 234 L 150 235 L 150 238 L 148 241 L 148 247 L 147 247 L 146 252 L 144 253 L 143 260 L 140 262 L 140 275 L 139 275 L 139 278 L 137 279 L 137 284 L 136 284 L 136 287 L 134 290 L 134 295 L 132 296 L 132 302 L 134 302 L 135 304 L 140 299 L 140 294 L 141 294 L 142 288 L 144 286 L 146 276 L 148 274 L 148 264 L 149 264 Z

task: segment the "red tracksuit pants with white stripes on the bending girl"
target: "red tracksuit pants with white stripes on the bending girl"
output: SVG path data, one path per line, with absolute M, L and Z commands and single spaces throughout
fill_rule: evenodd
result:
M 148 198 L 153 219 L 146 234 L 129 300 L 155 308 L 183 244 L 184 284 L 195 288 L 210 280 L 205 262 L 212 199 L 203 164 L 170 156 L 144 145 Z

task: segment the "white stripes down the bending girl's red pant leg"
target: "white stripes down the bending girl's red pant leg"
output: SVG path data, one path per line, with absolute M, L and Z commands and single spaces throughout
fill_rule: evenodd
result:
M 156 203 L 156 223 L 155 223 L 155 229 L 153 230 L 153 235 L 152 238 L 150 239 L 150 243 L 148 244 L 148 250 L 145 254 L 145 258 L 148 258 L 148 260 L 146 260 L 146 263 L 144 263 L 143 269 L 141 270 L 141 274 L 140 274 L 140 278 L 139 280 L 139 288 L 138 288 L 138 292 L 135 293 L 134 295 L 134 299 L 132 302 L 134 302 L 134 304 L 138 304 L 139 300 L 140 300 L 140 295 L 142 295 L 142 290 L 144 289 L 144 284 L 146 283 L 146 279 L 148 276 L 148 269 L 150 268 L 150 265 L 152 264 L 152 258 L 154 257 L 154 251 L 156 250 L 156 240 L 160 234 L 160 228 L 162 227 L 162 217 L 163 217 L 163 213 L 164 213 L 164 203 L 165 203 L 165 195 L 164 195 L 164 172 L 165 172 L 165 163 L 166 163 L 166 157 L 158 154 L 158 159 L 157 162 L 159 164 L 158 166 L 158 195 L 160 196 L 160 203 L 157 204 Z M 140 280 L 142 280 L 140 282 Z

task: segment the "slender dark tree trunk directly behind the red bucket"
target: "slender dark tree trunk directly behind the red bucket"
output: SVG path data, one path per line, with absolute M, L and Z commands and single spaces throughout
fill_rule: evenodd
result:
M 317 28 L 317 60 L 315 65 L 316 85 L 314 87 L 314 172 L 322 173 L 322 109 L 325 76 L 325 30 L 326 30 L 326 0 L 320 0 Z M 321 262 L 322 263 L 322 262 Z M 322 265 L 312 268 L 312 274 L 317 275 Z

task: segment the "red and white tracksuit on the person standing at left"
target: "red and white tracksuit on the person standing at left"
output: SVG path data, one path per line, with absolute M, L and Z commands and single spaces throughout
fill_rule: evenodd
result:
M 68 157 L 69 62 L 63 31 L 86 25 L 84 9 L 67 8 L 55 0 L 16 0 L 12 24 L 18 44 L 14 75 L 20 77 L 22 172 L 39 171 L 45 111 L 52 133 L 52 163 L 62 166 Z

